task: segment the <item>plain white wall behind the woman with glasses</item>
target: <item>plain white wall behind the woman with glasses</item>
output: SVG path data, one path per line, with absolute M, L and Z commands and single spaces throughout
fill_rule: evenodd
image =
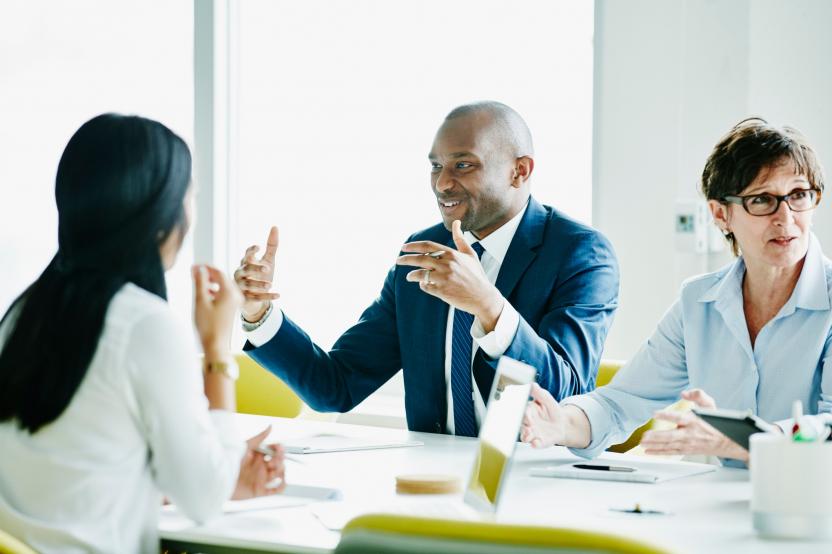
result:
M 832 159 L 832 3 L 597 0 L 595 17 L 593 223 L 622 274 L 605 356 L 626 359 L 683 279 L 731 259 L 679 252 L 674 236 L 676 201 L 700 196 L 705 159 L 731 125 L 792 124 Z M 816 231 L 832 248 L 828 209 Z

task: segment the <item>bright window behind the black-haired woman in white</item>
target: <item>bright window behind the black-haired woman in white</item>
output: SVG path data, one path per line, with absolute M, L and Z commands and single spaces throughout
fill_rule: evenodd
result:
M 55 172 L 70 136 L 107 111 L 193 135 L 193 6 L 189 2 L 27 2 L 0 18 L 0 309 L 57 250 Z M 11 55 L 10 55 L 11 54 Z M 190 318 L 186 242 L 168 274 Z

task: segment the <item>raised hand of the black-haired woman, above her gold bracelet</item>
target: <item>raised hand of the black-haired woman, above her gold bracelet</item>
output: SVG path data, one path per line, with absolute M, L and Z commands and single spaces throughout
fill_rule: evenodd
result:
M 240 289 L 225 274 L 208 265 L 195 265 L 194 323 L 206 360 L 227 357 L 231 329 L 243 301 Z

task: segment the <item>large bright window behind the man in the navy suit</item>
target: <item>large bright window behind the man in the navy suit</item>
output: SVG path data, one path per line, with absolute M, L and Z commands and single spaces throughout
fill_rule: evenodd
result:
M 281 306 L 321 346 L 378 295 L 402 242 L 440 221 L 427 153 L 456 105 L 517 109 L 535 138 L 533 194 L 589 221 L 592 2 L 238 10 L 236 251 L 279 226 Z

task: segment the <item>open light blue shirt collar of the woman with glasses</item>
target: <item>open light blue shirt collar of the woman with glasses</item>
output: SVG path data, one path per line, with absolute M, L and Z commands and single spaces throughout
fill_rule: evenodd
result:
M 830 307 L 829 287 L 826 281 L 823 251 L 814 233 L 809 234 L 809 247 L 803 269 L 794 287 L 792 295 L 781 309 L 781 314 L 794 312 L 796 308 L 805 310 L 828 310 Z M 728 302 L 742 299 L 742 278 L 745 275 L 745 262 L 737 258 L 728 271 L 714 285 L 699 297 L 700 302 Z

